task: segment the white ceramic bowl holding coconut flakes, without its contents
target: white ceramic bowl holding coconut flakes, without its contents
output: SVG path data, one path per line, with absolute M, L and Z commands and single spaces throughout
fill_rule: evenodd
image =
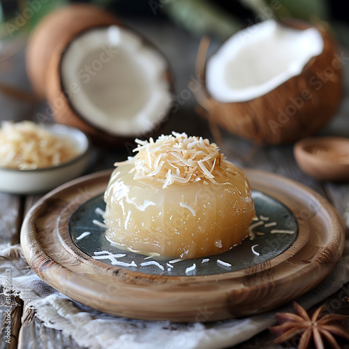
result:
M 46 125 L 55 135 L 68 137 L 77 147 L 78 155 L 61 165 L 37 170 L 15 170 L 0 166 L 0 191 L 13 194 L 34 194 L 50 191 L 60 184 L 80 176 L 89 163 L 90 145 L 87 136 L 77 128 Z

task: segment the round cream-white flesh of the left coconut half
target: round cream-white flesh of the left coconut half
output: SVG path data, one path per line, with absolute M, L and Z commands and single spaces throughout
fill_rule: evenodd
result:
M 64 52 L 60 69 L 70 105 L 107 133 L 140 135 L 170 108 L 167 61 L 128 29 L 112 26 L 78 36 Z

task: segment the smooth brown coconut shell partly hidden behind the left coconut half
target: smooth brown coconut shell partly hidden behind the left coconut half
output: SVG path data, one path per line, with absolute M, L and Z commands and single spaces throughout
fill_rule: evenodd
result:
M 27 74 L 36 94 L 46 96 L 47 68 L 53 54 L 62 52 L 80 32 L 112 24 L 119 24 L 113 15 L 86 3 L 60 8 L 44 17 L 29 38 L 26 54 Z

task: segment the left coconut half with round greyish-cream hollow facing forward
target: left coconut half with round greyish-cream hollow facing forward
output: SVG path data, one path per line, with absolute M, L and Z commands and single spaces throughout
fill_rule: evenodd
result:
M 167 119 L 172 104 L 168 60 L 117 20 L 103 24 L 91 20 L 89 10 L 79 14 L 80 6 L 68 8 L 68 33 L 51 51 L 45 69 L 45 96 L 54 120 L 80 128 L 100 145 L 149 137 Z M 57 22 L 57 16 L 51 20 Z M 73 20 L 84 22 L 79 31 L 70 29 Z

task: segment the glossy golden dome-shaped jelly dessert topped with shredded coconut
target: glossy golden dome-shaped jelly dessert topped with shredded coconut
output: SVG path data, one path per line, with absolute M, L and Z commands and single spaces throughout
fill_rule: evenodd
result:
M 112 244 L 189 259 L 228 251 L 248 236 L 250 184 L 216 144 L 186 133 L 136 142 L 137 154 L 115 163 L 104 195 Z

